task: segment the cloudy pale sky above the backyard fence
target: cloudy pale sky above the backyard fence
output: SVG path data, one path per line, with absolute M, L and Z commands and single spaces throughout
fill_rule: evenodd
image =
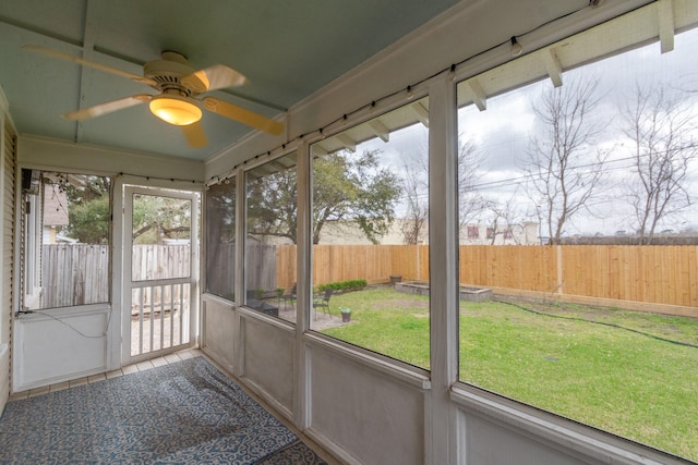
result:
M 696 50 L 698 28 L 676 35 L 675 48 L 669 53 L 660 53 L 660 45 L 654 42 L 563 74 L 563 87 L 577 79 L 598 82 L 595 91 L 600 101 L 592 113 L 591 123 L 603 129 L 595 147 L 609 151 L 609 163 L 603 174 L 607 191 L 600 199 L 589 204 L 589 211 L 580 211 L 573 218 L 564 235 L 611 235 L 617 231 L 634 231 L 633 211 L 622 188 L 623 179 L 630 172 L 627 157 L 631 142 L 623 134 L 619 109 L 631 101 L 636 83 L 661 83 L 665 93 L 681 95 L 683 103 L 696 115 L 698 125 Z M 524 167 L 530 138 L 541 137 L 545 129 L 537 120 L 533 105 L 540 100 L 543 91 L 552 88 L 550 79 L 544 79 L 488 99 L 485 111 L 479 111 L 470 105 L 460 109 L 458 114 L 461 142 L 472 140 L 477 147 L 478 192 L 501 204 L 510 203 L 515 217 L 520 221 L 538 222 L 540 207 L 526 195 Z M 694 134 L 698 139 L 698 132 Z M 426 140 L 428 130 L 417 124 L 390 134 L 387 144 L 374 139 L 358 147 L 358 151 L 380 148 L 384 166 L 401 172 L 406 161 L 425 156 Z M 691 198 L 698 200 L 698 160 L 694 160 L 687 187 Z M 486 222 L 486 216 L 481 220 Z M 689 228 L 698 229 L 695 206 L 664 221 L 660 231 L 678 232 Z

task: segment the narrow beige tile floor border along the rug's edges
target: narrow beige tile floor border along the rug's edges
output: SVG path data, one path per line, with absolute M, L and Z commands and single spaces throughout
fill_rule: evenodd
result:
M 266 408 L 267 412 L 272 413 L 272 415 L 274 415 L 276 418 L 278 418 L 279 421 L 281 421 L 288 429 L 293 431 L 293 433 L 296 436 L 301 438 L 301 440 L 303 440 L 303 442 L 305 442 L 305 444 L 308 444 L 311 449 L 313 449 L 313 451 L 315 451 L 315 453 L 322 460 L 327 462 L 328 465 L 340 465 L 340 462 L 338 462 L 335 457 L 333 457 L 325 450 L 323 450 L 312 439 L 310 439 L 309 437 L 303 435 L 298 428 L 296 428 L 296 426 L 293 424 L 288 421 L 282 416 L 278 415 L 274 411 L 274 408 L 272 408 L 266 402 L 264 402 L 263 399 L 261 399 L 260 396 L 257 396 L 256 394 L 251 392 L 249 389 L 246 389 L 243 384 L 238 382 L 228 372 L 226 372 L 226 370 L 224 368 L 221 368 L 216 362 L 212 360 L 208 356 L 206 356 L 206 354 L 204 354 L 198 348 L 188 348 L 188 350 L 184 350 L 184 351 L 174 352 L 172 354 L 165 355 L 163 357 L 152 358 L 149 360 L 140 362 L 140 363 L 133 364 L 133 365 L 128 365 L 128 366 L 122 367 L 122 368 L 120 368 L 118 370 L 113 370 L 113 371 L 109 371 L 109 372 L 105 372 L 105 374 L 99 374 L 99 375 L 93 375 L 93 376 L 88 376 L 88 377 L 85 377 L 85 378 L 75 379 L 75 380 L 72 380 L 72 381 L 63 381 L 63 382 L 59 382 L 59 383 L 56 383 L 56 384 L 50 384 L 50 386 L 47 386 L 47 387 L 44 387 L 44 388 L 32 389 L 29 391 L 17 392 L 17 393 L 14 393 L 14 394 L 10 395 L 9 402 L 21 400 L 21 399 L 34 397 L 36 395 L 47 394 L 49 392 L 61 391 L 63 389 L 74 388 L 76 386 L 101 382 L 101 381 L 105 381 L 107 379 L 117 378 L 117 377 L 120 377 L 120 376 L 125 376 L 125 375 L 130 375 L 130 374 L 134 374 L 134 372 L 139 372 L 139 371 L 149 370 L 151 368 L 159 367 L 159 366 L 163 366 L 163 365 L 173 364 L 173 363 L 177 363 L 177 362 L 185 360 L 188 358 L 197 357 L 200 355 L 205 356 L 208 362 L 210 362 L 214 366 L 216 366 L 220 370 L 220 372 L 226 374 L 226 376 L 230 377 L 230 379 L 236 381 L 248 393 L 248 395 L 250 395 L 257 403 L 260 403 L 260 405 L 262 405 L 264 408 Z

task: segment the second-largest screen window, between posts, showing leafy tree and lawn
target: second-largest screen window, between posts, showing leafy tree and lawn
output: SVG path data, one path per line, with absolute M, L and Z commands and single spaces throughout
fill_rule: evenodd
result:
M 311 328 L 422 368 L 428 110 L 428 99 L 414 101 L 312 146 Z

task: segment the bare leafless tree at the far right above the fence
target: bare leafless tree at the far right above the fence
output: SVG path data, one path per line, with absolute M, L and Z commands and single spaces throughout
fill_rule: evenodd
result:
M 662 85 L 638 85 L 622 112 L 624 133 L 634 143 L 627 192 L 639 244 L 651 244 L 661 220 L 691 205 L 686 186 L 698 157 L 698 124 L 681 97 L 669 96 Z

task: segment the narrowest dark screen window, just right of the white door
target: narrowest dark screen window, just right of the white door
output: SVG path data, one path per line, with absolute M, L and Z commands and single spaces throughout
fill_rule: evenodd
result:
M 236 179 L 206 191 L 206 292 L 234 301 Z

